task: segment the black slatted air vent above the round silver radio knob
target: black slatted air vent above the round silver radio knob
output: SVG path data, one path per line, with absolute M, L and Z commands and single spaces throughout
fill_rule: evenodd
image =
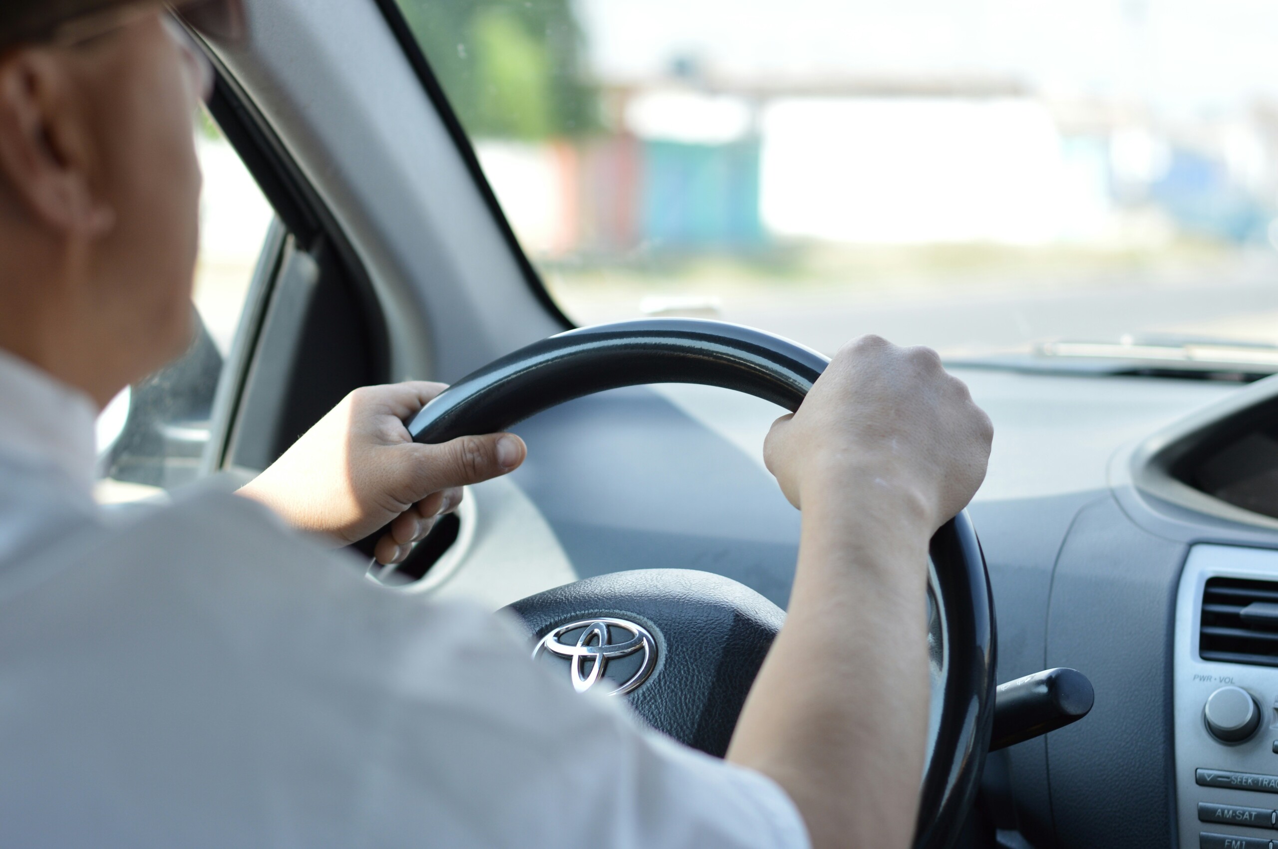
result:
M 1278 583 L 1212 578 L 1203 592 L 1203 660 L 1278 666 Z

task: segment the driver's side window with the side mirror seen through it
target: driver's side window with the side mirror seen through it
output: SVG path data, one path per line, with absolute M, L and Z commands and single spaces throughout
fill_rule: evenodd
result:
M 215 400 L 252 306 L 253 281 L 275 212 L 213 120 L 202 114 L 197 149 L 204 172 L 192 347 L 121 392 L 98 417 L 97 498 L 135 500 L 199 476 L 216 451 Z

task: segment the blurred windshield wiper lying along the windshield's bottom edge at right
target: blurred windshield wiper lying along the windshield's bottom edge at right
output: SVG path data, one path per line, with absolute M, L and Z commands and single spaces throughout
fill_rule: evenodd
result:
M 1028 354 L 947 359 L 951 365 L 1057 374 L 1111 374 L 1250 383 L 1278 374 L 1278 346 L 1190 336 L 1117 342 L 1042 342 Z

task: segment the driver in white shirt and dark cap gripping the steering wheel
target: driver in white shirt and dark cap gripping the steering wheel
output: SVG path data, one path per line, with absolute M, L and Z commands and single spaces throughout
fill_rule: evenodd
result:
M 851 342 L 768 434 L 799 564 L 726 760 L 337 550 L 389 525 L 399 562 L 523 462 L 512 434 L 413 443 L 438 384 L 351 393 L 238 494 L 93 504 L 96 414 L 192 337 L 211 71 L 184 26 L 243 11 L 0 6 L 0 844 L 909 846 L 928 541 L 992 440 L 927 349 Z

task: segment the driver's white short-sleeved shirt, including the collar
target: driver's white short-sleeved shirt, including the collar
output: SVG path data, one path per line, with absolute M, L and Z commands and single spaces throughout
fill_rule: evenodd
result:
M 808 845 L 767 778 L 245 499 L 102 522 L 87 398 L 0 356 L 0 845 Z

